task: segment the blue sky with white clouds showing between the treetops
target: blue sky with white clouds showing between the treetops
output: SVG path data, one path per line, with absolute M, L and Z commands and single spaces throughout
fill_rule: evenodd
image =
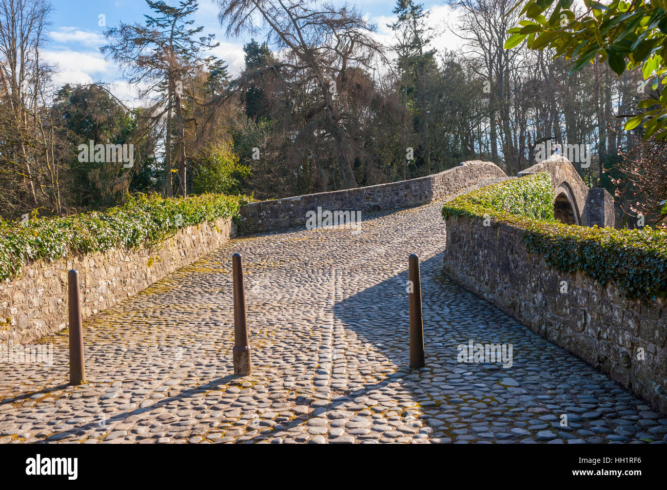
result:
M 133 99 L 132 87 L 122 79 L 122 73 L 113 62 L 106 60 L 99 47 L 105 44 L 103 31 L 106 27 L 126 23 L 143 22 L 143 14 L 149 13 L 145 0 L 51 0 L 51 41 L 45 51 L 49 63 L 59 72 L 54 81 L 62 83 L 91 83 L 101 81 L 113 83 L 113 91 L 126 101 Z M 354 3 L 354 2 L 351 2 Z M 167 0 L 177 5 L 176 0 Z M 374 23 L 378 24 L 378 37 L 391 42 L 392 36 L 386 24 L 392 21 L 393 1 L 364 0 L 354 3 Z M 454 15 L 443 0 L 425 0 L 424 7 L 432 11 L 431 22 L 444 27 L 454 21 Z M 243 43 L 247 38 L 225 36 L 225 28 L 217 20 L 217 6 L 211 0 L 200 0 L 195 15 L 196 25 L 204 26 L 204 33 L 213 33 L 220 44 L 213 54 L 224 59 L 232 74 L 243 67 Z M 101 17 L 103 16 L 103 17 Z M 106 27 L 100 25 L 105 24 Z M 450 47 L 458 42 L 452 33 L 445 33 L 434 43 L 436 47 Z

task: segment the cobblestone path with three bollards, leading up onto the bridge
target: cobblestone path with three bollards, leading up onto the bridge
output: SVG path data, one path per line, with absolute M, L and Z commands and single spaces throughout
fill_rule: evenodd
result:
M 0 443 L 663 443 L 667 419 L 442 276 L 442 203 L 363 231 L 234 239 L 84 324 L 89 383 L 0 365 Z M 231 254 L 243 255 L 253 376 L 231 365 Z M 408 255 L 428 367 L 408 369 Z M 512 344 L 511 367 L 459 363 Z M 566 414 L 567 425 L 562 426 Z

